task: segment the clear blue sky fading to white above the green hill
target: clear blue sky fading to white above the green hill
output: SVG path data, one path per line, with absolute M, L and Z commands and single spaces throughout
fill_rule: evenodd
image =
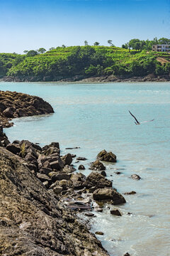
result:
M 170 0 L 0 0 L 0 52 L 170 38 Z

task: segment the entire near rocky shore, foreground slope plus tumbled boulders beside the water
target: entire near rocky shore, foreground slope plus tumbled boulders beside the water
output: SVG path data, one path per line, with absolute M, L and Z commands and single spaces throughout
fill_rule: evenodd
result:
M 6 95 L 13 98 L 18 93 L 6 92 Z M 17 107 L 29 102 L 26 100 L 29 97 L 33 96 L 22 96 L 18 105 L 15 103 L 13 117 L 19 116 L 15 115 Z M 44 109 L 35 104 L 36 100 L 42 102 L 39 97 L 33 99 L 35 101 L 30 101 L 35 111 L 52 111 L 49 105 Z M 11 101 L 16 102 L 16 97 L 6 100 L 6 108 L 11 107 Z M 5 105 L 4 98 L 2 102 Z M 1 124 L 1 255 L 108 255 L 101 242 L 89 232 L 87 223 L 77 218 L 77 213 L 91 218 L 94 215 L 91 210 L 101 212 L 105 203 L 117 206 L 126 202 L 106 178 L 106 167 L 102 163 L 116 162 L 115 154 L 99 152 L 89 168 L 91 174 L 85 176 L 76 172 L 72 164 L 76 155 L 62 156 L 58 142 L 43 147 L 27 140 L 11 143 L 3 132 L 6 123 Z M 84 160 L 82 156 L 77 157 L 81 163 Z M 84 170 L 84 165 L 80 164 L 78 169 Z M 111 210 L 111 214 L 121 215 L 117 209 Z

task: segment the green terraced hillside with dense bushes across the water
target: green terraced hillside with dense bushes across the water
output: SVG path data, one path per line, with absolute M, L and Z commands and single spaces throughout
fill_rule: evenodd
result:
M 170 78 L 170 53 L 115 46 L 57 47 L 29 57 L 0 53 L 0 78 L 4 80 L 81 80 L 109 75 L 133 78 L 149 74 Z

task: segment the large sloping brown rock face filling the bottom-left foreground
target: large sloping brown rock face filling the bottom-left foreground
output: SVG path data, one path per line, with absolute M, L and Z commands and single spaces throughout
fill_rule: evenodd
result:
M 26 164 L 0 147 L 0 255 L 108 255 Z

